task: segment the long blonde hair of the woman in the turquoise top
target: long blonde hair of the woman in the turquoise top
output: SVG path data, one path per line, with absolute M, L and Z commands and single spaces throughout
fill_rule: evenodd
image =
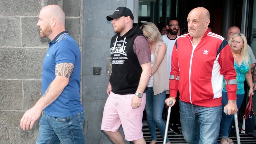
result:
M 241 56 L 244 60 L 244 63 L 245 64 L 250 64 L 250 56 L 248 54 L 248 48 L 247 48 L 247 40 L 246 40 L 246 37 L 244 36 L 244 34 L 242 33 L 235 33 L 233 36 L 231 36 L 231 38 L 229 39 L 228 41 L 228 44 L 229 46 L 231 47 L 231 43 L 232 43 L 232 40 L 234 37 L 236 36 L 240 36 L 242 38 L 242 41 L 243 41 L 243 44 L 244 44 L 244 47 L 242 48 L 241 50 Z M 231 48 L 232 49 L 232 48 Z

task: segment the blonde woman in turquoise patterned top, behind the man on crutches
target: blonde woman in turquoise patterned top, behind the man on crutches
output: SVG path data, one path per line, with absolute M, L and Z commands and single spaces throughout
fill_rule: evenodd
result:
M 236 69 L 237 79 L 237 92 L 236 92 L 236 105 L 239 110 L 244 100 L 244 80 L 246 80 L 249 86 L 249 96 L 253 95 L 253 83 L 251 73 L 251 60 L 247 51 L 246 37 L 241 33 L 234 34 L 228 41 L 231 47 L 231 51 L 234 56 L 234 67 Z M 228 94 L 225 87 L 225 81 L 223 77 L 223 91 L 222 91 L 222 108 L 228 103 Z M 233 115 L 226 115 L 222 112 L 221 119 L 221 144 L 233 144 L 233 141 L 228 138 L 231 127 L 233 125 Z

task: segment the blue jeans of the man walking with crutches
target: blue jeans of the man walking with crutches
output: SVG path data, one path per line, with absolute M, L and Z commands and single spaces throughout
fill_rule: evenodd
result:
M 189 144 L 217 144 L 221 116 L 221 106 L 200 107 L 180 100 L 182 133 Z

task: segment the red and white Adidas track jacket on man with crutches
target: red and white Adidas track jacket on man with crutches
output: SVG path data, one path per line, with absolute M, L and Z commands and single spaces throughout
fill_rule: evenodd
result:
M 221 105 L 223 76 L 228 100 L 236 100 L 237 80 L 234 58 L 228 42 L 220 35 L 205 32 L 193 51 L 193 37 L 180 36 L 172 51 L 170 96 L 202 107 Z

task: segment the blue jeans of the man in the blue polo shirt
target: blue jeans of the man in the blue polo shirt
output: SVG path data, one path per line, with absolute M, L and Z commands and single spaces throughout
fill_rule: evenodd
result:
M 85 144 L 84 117 L 84 111 L 68 117 L 44 113 L 39 122 L 36 144 Z

